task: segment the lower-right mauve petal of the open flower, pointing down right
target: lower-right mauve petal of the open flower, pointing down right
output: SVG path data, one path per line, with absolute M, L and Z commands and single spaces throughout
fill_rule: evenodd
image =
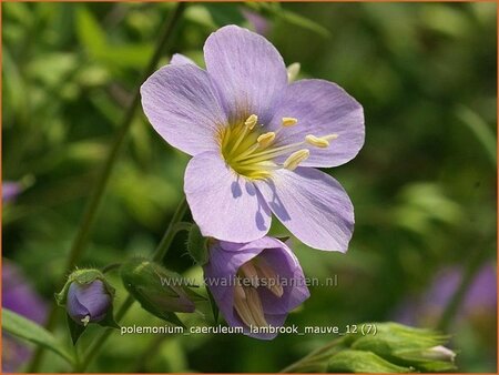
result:
M 354 207 L 342 185 L 312 168 L 275 171 L 257 183 L 272 212 L 310 247 L 346 252 L 354 231 Z

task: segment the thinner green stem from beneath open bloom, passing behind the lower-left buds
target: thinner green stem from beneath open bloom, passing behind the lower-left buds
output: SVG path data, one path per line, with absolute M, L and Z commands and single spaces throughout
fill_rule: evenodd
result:
M 185 215 L 186 210 L 187 210 L 187 202 L 185 197 L 183 197 L 181 203 L 176 207 L 175 213 L 172 216 L 172 220 L 170 221 L 169 227 L 166 229 L 163 239 L 161 240 L 160 244 L 157 245 L 156 250 L 151 256 L 153 261 L 155 262 L 162 261 L 166 255 L 167 251 L 170 250 L 170 246 L 172 245 L 175 234 L 186 227 L 185 225 L 186 223 L 181 222 L 182 217 L 184 217 Z M 131 295 L 129 295 L 115 315 L 115 321 L 118 323 L 120 323 L 120 321 L 126 314 L 129 308 L 132 306 L 134 298 Z M 83 361 L 81 361 L 81 366 L 79 368 L 75 368 L 79 373 L 82 373 L 86 369 L 89 364 L 92 362 L 92 359 L 101 349 L 102 345 L 106 342 L 106 339 L 113 332 L 114 328 L 108 328 L 101 332 L 101 334 L 94 339 L 93 344 L 86 352 L 86 355 L 83 357 Z

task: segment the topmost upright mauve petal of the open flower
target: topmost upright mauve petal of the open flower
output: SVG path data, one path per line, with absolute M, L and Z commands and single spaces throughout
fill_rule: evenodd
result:
M 227 26 L 208 37 L 204 59 L 231 121 L 243 121 L 253 113 L 262 123 L 271 120 L 287 84 L 283 58 L 271 42 Z

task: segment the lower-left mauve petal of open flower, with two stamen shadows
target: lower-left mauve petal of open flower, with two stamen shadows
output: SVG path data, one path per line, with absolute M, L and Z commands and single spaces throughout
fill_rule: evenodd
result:
M 268 232 L 267 204 L 254 183 L 237 175 L 220 152 L 205 152 L 190 161 L 184 191 L 204 236 L 249 242 Z

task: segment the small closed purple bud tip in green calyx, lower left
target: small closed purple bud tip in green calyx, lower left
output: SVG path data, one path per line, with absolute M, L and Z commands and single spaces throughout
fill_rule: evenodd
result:
M 89 284 L 72 282 L 68 290 L 67 310 L 69 316 L 80 325 L 100 322 L 108 314 L 112 297 L 100 280 Z

